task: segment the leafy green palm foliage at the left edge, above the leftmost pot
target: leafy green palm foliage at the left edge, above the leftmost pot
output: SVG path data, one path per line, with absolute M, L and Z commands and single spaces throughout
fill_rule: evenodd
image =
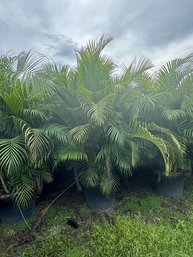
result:
M 65 139 L 65 127 L 47 124 L 51 111 L 42 93 L 49 96 L 48 81 L 38 75 L 46 60 L 31 51 L 0 58 L 0 180 L 22 207 L 41 190 L 42 181 L 53 180 L 51 153 L 55 141 Z

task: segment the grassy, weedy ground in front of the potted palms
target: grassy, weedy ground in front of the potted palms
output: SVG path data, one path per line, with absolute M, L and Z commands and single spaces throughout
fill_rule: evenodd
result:
M 106 212 L 90 210 L 83 194 L 71 189 L 48 209 L 29 243 L 19 241 L 29 232 L 24 221 L 0 224 L 0 256 L 193 256 L 192 185 L 186 175 L 184 194 L 168 198 L 156 195 L 144 178 L 132 179 Z M 58 194 L 37 199 L 35 217 Z M 67 216 L 76 219 L 78 229 L 67 224 Z M 33 221 L 27 220 L 30 227 Z

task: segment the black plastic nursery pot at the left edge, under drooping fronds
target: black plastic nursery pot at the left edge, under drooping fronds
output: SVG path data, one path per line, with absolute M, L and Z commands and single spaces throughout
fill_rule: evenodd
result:
M 1 198 L 0 199 L 1 222 L 4 224 L 15 224 L 19 221 L 22 221 L 23 216 L 25 219 L 33 217 L 35 212 L 35 201 L 33 200 L 31 203 L 29 203 L 28 207 L 25 206 L 24 209 L 20 207 L 20 209 L 18 208 L 17 205 L 14 206 L 14 202 L 11 197 Z

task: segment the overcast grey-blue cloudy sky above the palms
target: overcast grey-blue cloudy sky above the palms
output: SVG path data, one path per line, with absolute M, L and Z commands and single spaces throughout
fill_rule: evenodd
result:
M 145 56 L 159 69 L 193 52 L 192 0 L 1 0 L 0 13 L 2 53 L 35 48 L 75 67 L 73 49 L 103 33 L 118 66 Z

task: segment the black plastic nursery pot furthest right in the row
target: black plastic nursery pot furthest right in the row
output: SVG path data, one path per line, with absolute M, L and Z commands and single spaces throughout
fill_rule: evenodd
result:
M 173 197 L 181 196 L 184 189 L 185 173 L 173 175 L 171 178 L 162 175 L 160 182 L 156 182 L 156 192 L 163 196 Z

